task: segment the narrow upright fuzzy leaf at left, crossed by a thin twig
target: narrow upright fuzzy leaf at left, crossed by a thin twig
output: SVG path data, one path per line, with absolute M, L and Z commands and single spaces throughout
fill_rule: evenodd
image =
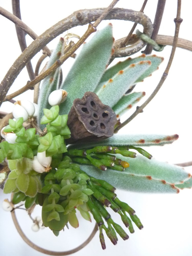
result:
M 52 52 L 50 60 L 48 61 L 48 64 L 46 66 L 46 69 L 50 68 L 56 60 L 58 60 L 63 52 L 64 48 L 64 39 L 61 38 L 56 49 Z M 50 73 L 45 79 L 43 79 L 43 82 L 41 84 L 41 90 L 40 95 L 38 99 L 38 105 L 39 109 L 42 110 L 43 108 L 50 108 L 50 105 L 48 103 L 48 97 L 49 94 L 57 89 L 57 85 L 59 83 L 60 78 L 60 67 L 56 69 L 56 71 Z M 43 116 L 42 111 L 39 111 L 38 115 L 38 125 L 41 128 L 44 128 L 43 125 L 40 125 L 41 117 Z

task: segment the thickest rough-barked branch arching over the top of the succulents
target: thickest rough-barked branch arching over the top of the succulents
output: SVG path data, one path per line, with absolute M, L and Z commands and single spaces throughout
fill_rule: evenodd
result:
M 1 10 L 1 9 L 0 9 Z M 100 9 L 90 9 L 90 10 L 80 10 L 77 12 L 74 12 L 67 18 L 59 21 L 54 26 L 46 30 L 41 36 L 39 36 L 34 42 L 32 42 L 24 51 L 23 53 L 17 58 L 17 60 L 14 62 L 10 70 L 7 72 L 6 76 L 1 82 L 1 93 L 0 93 L 0 105 L 4 98 L 6 97 L 6 94 L 13 84 L 15 78 L 19 74 L 19 72 L 24 68 L 26 63 L 33 58 L 33 56 L 40 51 L 44 45 L 49 43 L 51 40 L 53 40 L 55 37 L 60 35 L 61 33 L 65 32 L 66 30 L 78 26 L 78 25 L 85 25 L 87 23 L 90 23 L 92 21 L 95 21 L 99 16 L 105 11 L 105 8 Z M 143 13 L 136 12 L 133 10 L 128 9 L 121 9 L 121 8 L 114 8 L 105 19 L 120 19 L 120 20 L 130 20 L 133 22 L 140 23 L 144 26 L 144 33 L 151 36 L 152 33 L 152 24 L 151 20 Z M 18 19 L 19 20 L 19 19 Z M 19 20 L 20 21 L 20 20 Z M 129 48 L 129 52 L 134 53 L 139 51 L 143 46 L 145 45 L 142 40 L 138 40 L 137 43 L 131 45 Z M 73 53 L 72 49 L 76 48 L 72 47 L 70 55 Z M 54 65 L 54 68 L 56 69 L 59 65 Z M 50 69 L 50 72 L 52 72 L 52 67 Z M 46 73 L 48 75 L 49 73 Z M 36 83 L 38 83 L 40 80 L 42 80 L 45 76 L 41 76 L 39 80 L 37 79 L 34 83 L 31 82 L 29 86 L 33 86 Z M 24 87 L 24 90 L 26 91 L 28 89 L 28 86 Z M 20 94 L 21 92 L 19 92 Z M 17 94 L 18 95 L 18 94 Z M 6 100 L 12 99 L 15 96 L 9 96 L 6 97 Z

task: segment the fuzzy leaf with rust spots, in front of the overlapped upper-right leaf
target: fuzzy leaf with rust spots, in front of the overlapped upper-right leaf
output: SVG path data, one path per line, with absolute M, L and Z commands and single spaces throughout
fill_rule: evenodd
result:
M 103 104 L 113 107 L 150 66 L 151 62 L 143 61 L 131 64 L 124 70 L 120 70 L 100 90 L 95 91 L 97 96 Z

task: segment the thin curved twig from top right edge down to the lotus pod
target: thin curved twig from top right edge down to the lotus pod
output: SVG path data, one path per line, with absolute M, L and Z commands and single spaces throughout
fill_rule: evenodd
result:
M 152 92 L 152 94 L 150 95 L 150 97 L 141 105 L 141 106 L 137 106 L 135 112 L 128 118 L 126 119 L 122 124 L 120 124 L 114 132 L 118 132 L 121 128 L 123 128 L 125 125 L 127 125 L 131 120 L 133 120 L 133 118 L 135 118 L 139 113 L 143 112 L 143 109 L 149 104 L 149 102 L 154 98 L 154 96 L 157 94 L 157 92 L 159 91 L 159 89 L 161 88 L 161 86 L 163 85 L 165 79 L 168 76 L 174 55 L 175 55 L 175 51 L 177 48 L 177 42 L 178 42 L 178 33 L 179 33 L 179 27 L 180 24 L 182 22 L 182 19 L 180 18 L 180 9 L 181 9 L 181 0 L 178 0 L 178 8 L 177 8 L 177 17 L 174 19 L 175 22 L 175 35 L 174 35 L 174 41 L 173 41 L 173 47 L 171 50 L 171 54 L 169 57 L 169 61 L 167 64 L 167 67 L 158 83 L 158 85 L 156 86 L 155 90 Z

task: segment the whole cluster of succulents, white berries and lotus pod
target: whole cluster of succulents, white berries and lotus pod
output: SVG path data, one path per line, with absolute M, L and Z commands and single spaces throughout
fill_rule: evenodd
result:
M 180 166 L 153 159 L 143 148 L 173 143 L 177 134 L 118 134 L 125 125 L 122 117 L 145 96 L 134 92 L 135 86 L 158 70 L 163 58 L 141 54 L 112 65 L 109 23 L 83 44 L 63 81 L 58 59 L 70 49 L 71 37 L 78 36 L 61 37 L 51 53 L 46 71 L 59 64 L 42 80 L 38 104 L 17 100 L 13 119 L 1 129 L 0 163 L 9 171 L 1 172 L 0 180 L 4 193 L 12 193 L 3 208 L 13 212 L 22 204 L 31 213 L 40 205 L 41 218 L 33 220 L 32 229 L 47 227 L 55 236 L 79 226 L 78 211 L 88 221 L 95 219 L 105 249 L 104 237 L 116 244 L 119 236 L 129 238 L 126 228 L 130 233 L 134 225 L 143 228 L 116 188 L 178 193 L 191 188 L 192 177 Z M 109 208 L 125 228 L 113 220 Z

